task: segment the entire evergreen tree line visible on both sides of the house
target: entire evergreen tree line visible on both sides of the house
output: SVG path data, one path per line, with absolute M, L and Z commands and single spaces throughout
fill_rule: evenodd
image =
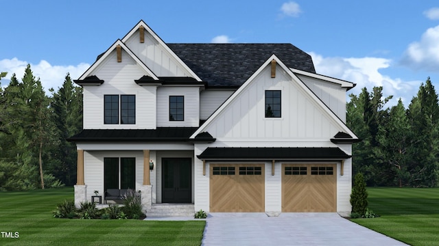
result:
M 0 73 L 5 77 L 6 73 Z M 72 186 L 76 182 L 75 143 L 82 130 L 82 87 L 67 74 L 62 87 L 43 90 L 25 68 L 0 87 L 0 191 Z M 349 95 L 346 124 L 362 141 L 353 144 L 353 176 L 368 186 L 436 187 L 439 179 L 439 103 L 428 78 L 407 109 L 383 87 Z

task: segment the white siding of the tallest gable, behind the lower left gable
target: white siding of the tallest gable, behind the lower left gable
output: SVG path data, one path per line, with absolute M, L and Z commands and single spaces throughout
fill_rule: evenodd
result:
M 145 42 L 140 42 L 139 30 L 137 30 L 125 44 L 156 76 L 191 77 L 189 71 L 147 31 L 145 31 Z

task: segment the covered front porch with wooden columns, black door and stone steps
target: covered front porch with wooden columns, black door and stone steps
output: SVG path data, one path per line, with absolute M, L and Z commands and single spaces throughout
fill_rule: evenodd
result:
M 111 178 L 107 167 L 113 164 L 119 172 Z M 193 150 L 78 149 L 75 205 L 98 200 L 99 206 L 114 203 L 106 201 L 105 191 L 116 180 L 119 189 L 141 194 L 148 217 L 193 216 L 193 170 Z M 94 191 L 99 191 L 99 197 Z

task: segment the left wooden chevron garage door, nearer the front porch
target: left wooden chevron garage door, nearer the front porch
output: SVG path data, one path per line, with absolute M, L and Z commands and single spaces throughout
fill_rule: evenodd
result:
M 211 212 L 265 211 L 263 164 L 211 164 Z

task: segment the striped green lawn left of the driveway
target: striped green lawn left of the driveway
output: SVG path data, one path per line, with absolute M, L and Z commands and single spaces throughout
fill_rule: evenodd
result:
M 56 219 L 73 189 L 0 192 L 0 245 L 200 245 L 205 221 Z M 18 238 L 1 232 L 18 232 Z

